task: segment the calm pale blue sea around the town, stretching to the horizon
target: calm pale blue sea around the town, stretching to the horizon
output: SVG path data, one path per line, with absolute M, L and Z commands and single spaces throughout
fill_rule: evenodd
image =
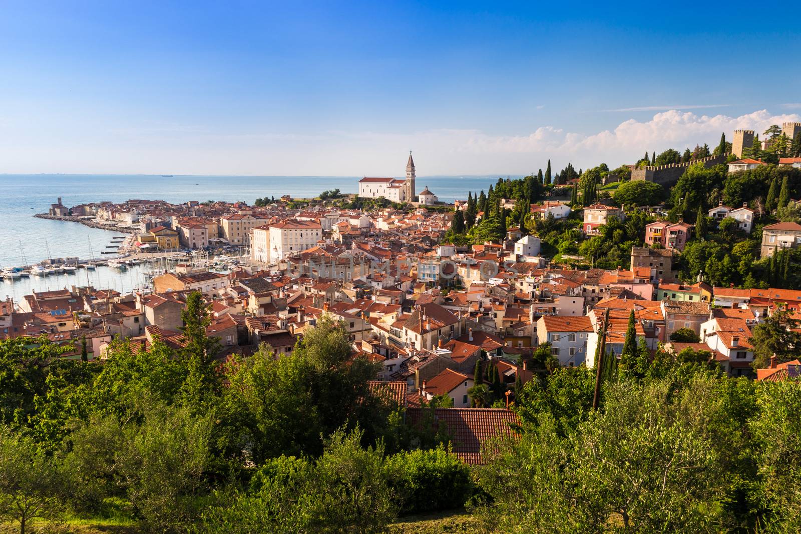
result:
M 417 191 L 428 186 L 441 200 L 466 199 L 468 191 L 485 191 L 497 176 L 418 177 Z M 504 176 L 505 178 L 505 176 Z M 516 177 L 513 177 L 516 178 Z M 339 188 L 356 192 L 358 178 L 347 176 L 174 176 L 155 175 L 0 175 L 0 267 L 36 263 L 48 256 L 90 257 L 111 245 L 116 234 L 78 223 L 36 219 L 57 197 L 76 204 L 123 202 L 128 199 L 244 200 L 253 203 L 265 196 L 311 197 Z M 23 262 L 24 258 L 24 262 Z M 14 291 L 16 292 L 16 291 Z M 2 296 L 2 290 L 0 290 Z

